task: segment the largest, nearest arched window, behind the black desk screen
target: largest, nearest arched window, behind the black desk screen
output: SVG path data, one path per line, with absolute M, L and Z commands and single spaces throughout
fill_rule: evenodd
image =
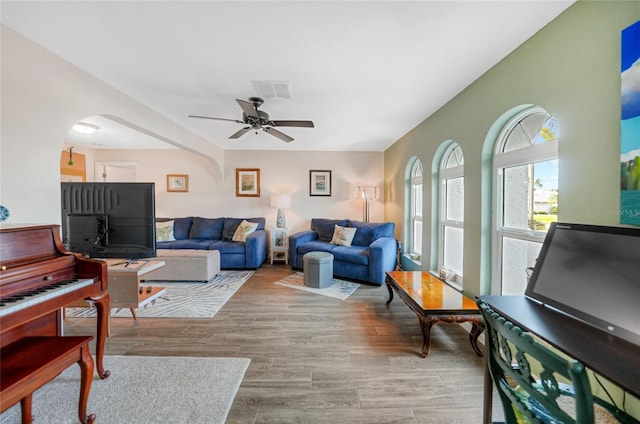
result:
M 558 129 L 544 109 L 514 116 L 496 139 L 492 292 L 522 294 L 558 213 Z

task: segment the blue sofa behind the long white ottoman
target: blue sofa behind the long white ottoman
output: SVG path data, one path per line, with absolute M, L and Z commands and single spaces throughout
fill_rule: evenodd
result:
M 232 241 L 238 225 L 246 219 L 256 222 L 256 231 L 246 242 Z M 220 252 L 220 268 L 256 269 L 267 259 L 267 232 L 264 218 L 157 218 L 173 221 L 175 241 L 156 242 L 157 249 L 204 249 Z

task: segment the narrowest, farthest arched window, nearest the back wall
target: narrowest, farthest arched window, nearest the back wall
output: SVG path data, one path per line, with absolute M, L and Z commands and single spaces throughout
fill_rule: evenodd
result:
M 422 258 L 422 162 L 416 159 L 408 174 L 408 232 L 405 253 L 419 262 Z

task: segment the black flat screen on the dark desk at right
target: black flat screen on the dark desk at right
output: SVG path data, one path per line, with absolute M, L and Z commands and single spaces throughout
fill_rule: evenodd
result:
M 640 228 L 552 224 L 525 295 L 640 346 Z

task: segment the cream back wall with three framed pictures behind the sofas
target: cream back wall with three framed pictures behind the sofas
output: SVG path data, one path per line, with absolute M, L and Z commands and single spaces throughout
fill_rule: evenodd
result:
M 183 150 L 96 150 L 97 162 L 130 161 L 137 164 L 138 181 L 156 184 L 156 214 L 162 217 L 215 218 L 264 216 L 275 225 L 276 210 L 269 206 L 273 193 L 290 193 L 286 210 L 291 232 L 309 228 L 311 218 L 362 219 L 362 202 L 352 199 L 353 185 L 383 189 L 383 153 L 226 151 L 224 172 L 213 172 L 206 159 Z M 93 164 L 87 163 L 92 169 Z M 236 197 L 235 169 L 260 169 L 260 197 Z M 332 171 L 332 196 L 309 196 L 309 171 Z M 91 172 L 90 170 L 88 173 Z M 189 175 L 189 191 L 166 191 L 166 174 Z M 383 201 L 370 204 L 371 221 L 383 219 Z

